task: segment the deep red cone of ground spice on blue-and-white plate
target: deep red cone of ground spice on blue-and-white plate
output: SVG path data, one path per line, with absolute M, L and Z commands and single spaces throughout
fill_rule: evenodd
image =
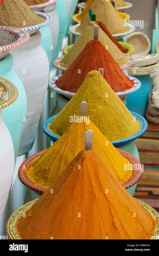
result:
M 97 39 L 86 44 L 82 52 L 55 82 L 56 86 L 64 91 L 76 93 L 88 72 L 99 68 L 104 68 L 104 78 L 114 92 L 125 91 L 134 86 L 134 82 L 124 74 L 108 50 Z

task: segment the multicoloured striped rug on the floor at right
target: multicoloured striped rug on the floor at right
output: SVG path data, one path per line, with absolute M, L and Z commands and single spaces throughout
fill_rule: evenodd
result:
M 136 140 L 144 173 L 134 197 L 151 205 L 159 212 L 159 125 L 148 123 L 147 132 Z

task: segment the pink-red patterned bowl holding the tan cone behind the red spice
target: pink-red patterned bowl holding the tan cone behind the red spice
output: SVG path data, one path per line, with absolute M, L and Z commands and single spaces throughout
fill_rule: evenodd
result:
M 134 59 L 133 59 L 133 57 L 131 57 L 131 56 L 128 55 L 128 54 L 124 54 L 124 55 L 125 55 L 125 57 L 127 58 L 128 61 L 127 61 L 126 64 L 120 66 L 120 68 L 121 68 L 122 70 L 127 69 L 128 67 L 130 67 L 131 65 L 134 64 Z M 65 70 L 67 69 L 67 67 L 62 67 L 62 66 L 60 65 L 60 61 L 61 61 L 63 58 L 64 58 L 64 55 L 62 55 L 62 56 L 56 58 L 56 59 L 53 61 L 53 65 L 54 65 L 55 68 L 58 68 L 59 70 L 65 71 Z

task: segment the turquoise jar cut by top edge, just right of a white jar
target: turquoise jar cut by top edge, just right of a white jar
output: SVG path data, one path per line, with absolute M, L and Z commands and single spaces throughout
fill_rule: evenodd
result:
M 66 6 L 65 0 L 57 0 L 56 1 L 56 12 L 57 12 L 58 18 L 59 18 L 59 34 L 58 34 L 56 50 L 55 50 L 53 59 L 51 61 L 50 70 L 55 69 L 55 67 L 53 66 L 53 61 L 58 57 L 58 54 L 59 54 L 59 51 L 60 51 L 61 45 L 62 45 L 62 39 L 64 37 L 66 21 L 67 21 L 67 6 Z

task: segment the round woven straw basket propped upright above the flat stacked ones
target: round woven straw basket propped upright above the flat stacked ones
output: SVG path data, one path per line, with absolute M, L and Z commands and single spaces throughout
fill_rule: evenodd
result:
M 135 54 L 147 55 L 151 49 L 150 39 L 143 32 L 135 32 L 130 34 L 126 40 L 135 48 Z

